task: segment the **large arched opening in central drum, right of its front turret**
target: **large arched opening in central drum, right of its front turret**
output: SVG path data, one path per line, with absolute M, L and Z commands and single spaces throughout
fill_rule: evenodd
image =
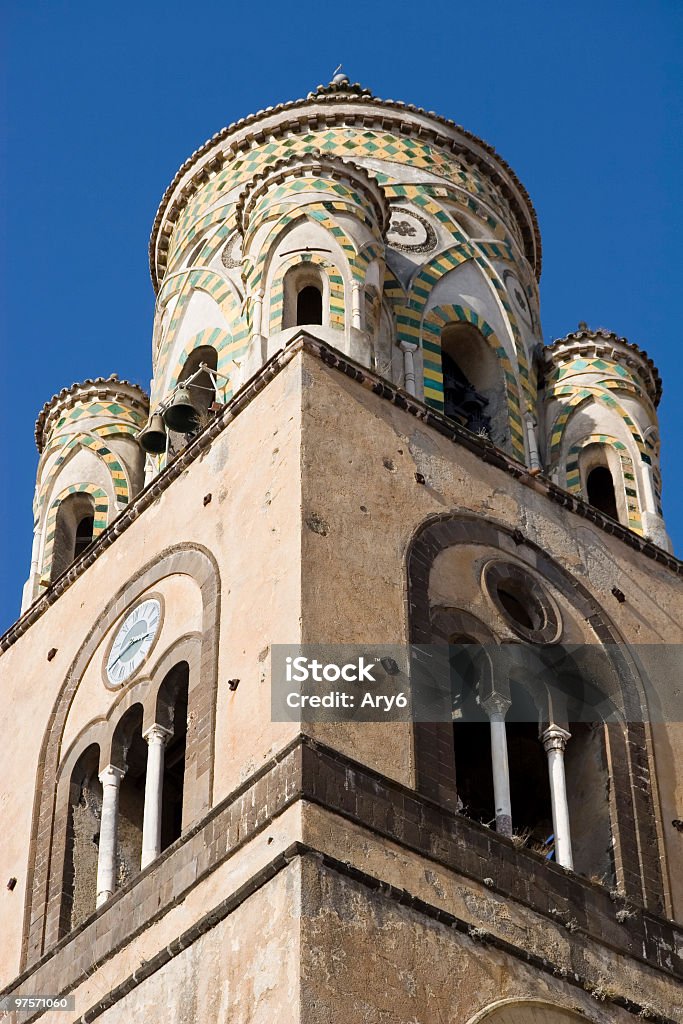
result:
M 507 434 L 507 402 L 498 357 L 471 324 L 441 332 L 443 412 L 474 433 Z

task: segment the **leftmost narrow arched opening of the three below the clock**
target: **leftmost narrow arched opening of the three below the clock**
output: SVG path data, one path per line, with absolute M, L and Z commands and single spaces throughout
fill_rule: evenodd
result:
M 95 909 L 99 815 L 102 807 L 98 768 L 99 746 L 91 743 L 81 754 L 71 775 L 60 935 L 78 928 Z

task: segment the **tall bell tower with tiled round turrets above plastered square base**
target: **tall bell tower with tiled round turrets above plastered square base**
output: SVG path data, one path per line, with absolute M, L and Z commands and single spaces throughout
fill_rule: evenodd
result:
M 683 1021 L 649 356 L 545 346 L 513 170 L 343 74 L 200 146 L 150 261 L 150 398 L 89 380 L 38 420 L 0 1008 Z M 318 715 L 286 684 L 319 650 Z

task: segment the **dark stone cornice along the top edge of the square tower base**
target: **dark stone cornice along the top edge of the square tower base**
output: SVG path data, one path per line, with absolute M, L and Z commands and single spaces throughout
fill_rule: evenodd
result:
M 110 523 L 96 541 L 87 548 L 84 553 L 77 558 L 60 577 L 52 583 L 47 590 L 25 611 L 10 628 L 0 637 L 0 651 L 7 650 L 22 637 L 27 630 L 45 611 L 54 604 L 59 596 L 77 580 L 108 548 L 115 543 L 117 538 L 123 534 L 150 505 L 157 501 L 160 495 L 179 477 L 188 466 L 199 459 L 200 456 L 211 446 L 212 441 L 218 434 L 231 423 L 250 404 L 269 382 L 278 376 L 281 371 L 288 366 L 292 359 L 300 352 L 308 352 L 332 369 L 343 373 L 346 377 L 354 380 L 357 384 L 372 391 L 378 397 L 391 401 L 394 406 L 404 410 L 411 416 L 415 416 L 427 426 L 432 427 L 439 434 L 447 437 L 454 443 L 466 447 L 477 458 L 489 465 L 496 466 L 503 472 L 508 473 L 519 480 L 526 487 L 536 490 L 537 494 L 544 495 L 556 505 L 560 505 L 568 512 L 593 522 L 605 534 L 611 534 L 624 544 L 640 552 L 647 558 L 651 558 L 658 564 L 670 569 L 677 575 L 683 575 L 683 562 L 667 551 L 656 547 L 650 541 L 645 540 L 633 530 L 622 526 L 609 516 L 603 515 L 594 506 L 583 501 L 577 495 L 563 490 L 551 480 L 542 475 L 533 475 L 526 466 L 517 462 L 507 453 L 497 447 L 490 441 L 476 434 L 471 433 L 464 427 L 446 419 L 441 413 L 429 409 L 423 402 L 402 391 L 394 384 L 390 384 L 382 377 L 372 371 L 353 362 L 346 356 L 341 355 L 336 349 L 325 342 L 311 338 L 305 331 L 297 334 L 289 344 L 276 352 L 261 370 L 242 388 L 241 391 L 225 406 L 211 423 L 194 438 L 194 440 L 180 452 L 178 456 L 166 467 L 166 469 L 155 477 L 143 490 L 141 490 L 117 518 Z M 427 481 L 428 482 L 428 481 Z

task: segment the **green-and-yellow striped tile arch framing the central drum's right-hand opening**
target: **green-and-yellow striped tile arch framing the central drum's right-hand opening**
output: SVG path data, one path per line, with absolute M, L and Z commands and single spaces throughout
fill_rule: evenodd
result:
M 517 380 L 505 348 L 497 338 L 494 329 L 473 309 L 459 305 L 436 306 L 430 309 L 424 321 L 424 378 L 425 401 L 433 409 L 443 411 L 443 374 L 441 370 L 441 332 L 449 324 L 471 324 L 481 333 L 496 353 L 503 372 L 508 402 L 508 425 L 515 458 L 525 461 L 524 429 L 519 408 Z

